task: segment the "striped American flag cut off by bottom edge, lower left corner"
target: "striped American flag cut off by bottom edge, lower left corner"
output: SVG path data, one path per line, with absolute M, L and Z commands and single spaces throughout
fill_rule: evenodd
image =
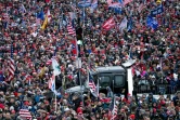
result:
M 31 120 L 33 119 L 33 117 L 30 115 L 30 111 L 28 109 L 20 109 L 18 114 L 20 114 L 20 117 L 22 119 L 26 119 L 26 120 Z

